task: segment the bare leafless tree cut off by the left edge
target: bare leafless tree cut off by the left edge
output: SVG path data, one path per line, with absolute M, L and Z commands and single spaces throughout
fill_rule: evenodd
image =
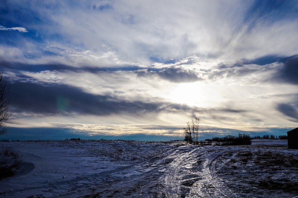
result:
M 7 85 L 7 82 L 3 79 L 3 70 L 0 72 L 0 135 L 6 134 L 6 121 L 12 115 L 8 113 L 8 107 L 10 105 L 10 99 L 7 97 L 7 94 L 10 91 L 10 87 Z

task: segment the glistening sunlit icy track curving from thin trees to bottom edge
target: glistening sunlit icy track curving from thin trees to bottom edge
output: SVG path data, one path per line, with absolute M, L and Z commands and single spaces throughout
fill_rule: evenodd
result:
M 219 181 L 213 162 L 226 147 L 200 147 L 178 156 L 164 179 L 167 197 L 233 197 Z

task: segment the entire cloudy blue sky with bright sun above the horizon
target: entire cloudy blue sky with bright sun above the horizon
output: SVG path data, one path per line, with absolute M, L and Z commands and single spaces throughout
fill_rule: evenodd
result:
M 285 134 L 297 33 L 295 0 L 1 0 L 2 137 L 175 139 L 194 117 L 201 139 Z

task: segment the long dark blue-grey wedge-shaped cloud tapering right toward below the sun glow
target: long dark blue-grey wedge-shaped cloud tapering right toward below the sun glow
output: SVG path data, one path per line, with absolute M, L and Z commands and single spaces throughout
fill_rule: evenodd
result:
M 52 114 L 142 114 L 145 112 L 190 110 L 187 105 L 130 102 L 102 95 L 92 95 L 65 85 L 9 83 L 12 111 Z

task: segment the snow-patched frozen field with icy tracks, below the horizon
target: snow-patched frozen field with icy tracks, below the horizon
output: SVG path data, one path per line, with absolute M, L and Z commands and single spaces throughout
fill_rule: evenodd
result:
M 298 151 L 284 140 L 229 147 L 101 140 L 1 144 L 19 150 L 26 163 L 23 175 L 0 181 L 0 197 L 298 196 Z

